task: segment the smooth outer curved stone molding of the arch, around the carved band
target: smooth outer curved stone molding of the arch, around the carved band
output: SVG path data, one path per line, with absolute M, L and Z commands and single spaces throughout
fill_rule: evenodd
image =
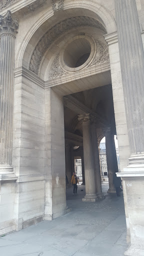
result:
M 88 1 L 88 3 L 85 1 L 81 1 L 80 0 L 74 0 L 71 1 L 70 3 L 68 1 L 64 1 L 63 3 L 63 10 L 67 11 L 69 9 L 77 9 L 78 11 L 82 12 L 82 8 L 85 10 L 85 13 L 87 10 L 89 10 L 91 12 L 92 17 L 99 19 L 101 22 L 103 22 L 103 24 L 106 27 L 106 32 L 107 33 L 111 33 L 116 31 L 116 23 L 115 20 L 113 18 L 113 16 L 111 15 L 111 13 L 109 12 L 108 9 L 106 9 L 103 5 L 93 2 L 91 0 Z M 58 12 L 55 12 L 54 15 L 57 15 Z M 58 16 L 58 15 L 57 15 Z M 69 15 L 68 15 L 69 16 Z M 49 9 L 48 11 L 46 10 L 45 13 L 43 13 L 43 15 L 40 18 L 35 18 L 34 20 L 34 24 L 32 25 L 32 27 L 29 29 L 29 31 L 27 32 L 27 34 L 25 34 L 23 41 L 17 51 L 17 56 L 16 56 L 16 68 L 22 65 L 22 59 L 24 56 L 24 52 L 28 50 L 26 50 L 28 42 L 31 38 L 32 35 L 34 35 L 34 33 L 36 34 L 36 31 L 39 33 L 39 36 L 41 37 L 43 33 L 41 33 L 42 31 L 39 31 L 39 27 L 46 21 L 46 20 L 50 20 L 50 18 L 53 17 L 53 13 L 51 11 L 51 9 Z M 50 25 L 51 26 L 51 25 Z M 36 35 L 37 38 L 37 35 Z M 31 50 L 31 47 L 30 47 Z

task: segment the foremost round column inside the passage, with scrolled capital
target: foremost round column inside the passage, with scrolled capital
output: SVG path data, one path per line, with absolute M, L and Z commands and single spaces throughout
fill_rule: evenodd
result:
M 93 166 L 92 140 L 90 128 L 90 115 L 78 115 L 78 120 L 82 121 L 83 128 L 83 154 L 85 171 L 85 196 L 82 201 L 96 200 L 95 174 Z

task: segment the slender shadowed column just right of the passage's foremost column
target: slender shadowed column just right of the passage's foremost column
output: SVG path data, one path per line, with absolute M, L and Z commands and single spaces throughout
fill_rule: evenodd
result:
M 93 146 L 93 160 L 94 160 L 94 170 L 95 170 L 95 183 L 96 183 L 96 195 L 99 199 L 104 199 L 101 189 L 101 173 L 99 164 L 99 152 L 97 143 L 97 132 L 96 132 L 96 119 L 92 117 L 91 123 L 91 135 L 92 135 L 92 146 Z

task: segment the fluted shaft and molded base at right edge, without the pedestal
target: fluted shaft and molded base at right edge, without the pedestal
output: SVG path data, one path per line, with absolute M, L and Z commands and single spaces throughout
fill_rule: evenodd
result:
M 135 0 L 115 0 L 118 45 L 130 145 L 128 167 L 144 166 L 144 53 Z

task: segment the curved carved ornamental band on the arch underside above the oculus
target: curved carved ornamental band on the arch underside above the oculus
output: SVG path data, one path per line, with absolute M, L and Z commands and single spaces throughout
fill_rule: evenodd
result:
M 40 41 L 38 42 L 33 51 L 29 69 L 37 74 L 42 56 L 44 55 L 45 51 L 50 46 L 50 44 L 63 32 L 66 32 L 69 29 L 78 26 L 97 27 L 106 32 L 104 26 L 94 18 L 90 18 L 87 16 L 77 16 L 65 19 L 60 23 L 56 24 L 55 26 L 53 26 L 48 32 L 46 32 L 42 36 L 42 38 L 40 39 Z

